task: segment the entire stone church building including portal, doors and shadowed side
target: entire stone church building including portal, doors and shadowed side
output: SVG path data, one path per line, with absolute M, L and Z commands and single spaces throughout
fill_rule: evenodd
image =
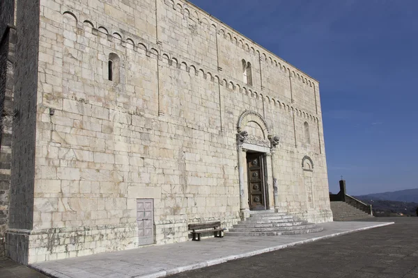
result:
M 315 79 L 187 1 L 0 6 L 10 258 L 182 242 L 254 210 L 332 221 Z

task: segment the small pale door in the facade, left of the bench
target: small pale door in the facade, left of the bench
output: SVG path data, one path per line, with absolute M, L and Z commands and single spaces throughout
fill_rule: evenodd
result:
M 137 199 L 139 245 L 154 243 L 154 200 Z

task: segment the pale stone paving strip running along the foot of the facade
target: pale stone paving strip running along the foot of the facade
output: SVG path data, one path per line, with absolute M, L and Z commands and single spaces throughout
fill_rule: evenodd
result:
M 350 234 L 394 222 L 329 222 L 324 230 L 295 236 L 228 237 L 187 241 L 134 250 L 35 263 L 32 268 L 56 278 L 165 277 L 315 240 Z

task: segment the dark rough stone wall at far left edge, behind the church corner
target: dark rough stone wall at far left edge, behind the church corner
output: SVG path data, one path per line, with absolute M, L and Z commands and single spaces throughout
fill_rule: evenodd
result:
M 3 237 L 8 228 L 10 195 L 10 161 L 13 122 L 13 72 L 15 55 L 15 1 L 0 3 L 0 256 Z

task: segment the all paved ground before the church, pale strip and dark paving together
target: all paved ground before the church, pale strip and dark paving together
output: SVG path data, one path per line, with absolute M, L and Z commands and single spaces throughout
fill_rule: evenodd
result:
M 418 218 L 373 218 L 372 221 L 327 223 L 324 225 L 325 231 L 310 235 L 258 238 L 226 236 L 202 240 L 200 243 L 144 247 L 34 266 L 52 277 L 60 278 L 164 275 L 171 275 L 171 278 L 418 277 Z M 395 224 L 348 233 L 387 222 Z M 348 234 L 332 236 L 341 233 Z M 320 237 L 325 239 L 316 240 Z M 297 244 L 304 241 L 313 242 Z M 268 248 L 274 250 L 292 245 L 295 246 L 263 253 Z M 257 253 L 262 254 L 250 256 Z M 236 259 L 240 257 L 244 259 Z M 2 278 L 43 277 L 11 261 L 0 262 Z M 211 266 L 203 268 L 206 265 Z M 199 269 L 183 272 L 192 268 Z

